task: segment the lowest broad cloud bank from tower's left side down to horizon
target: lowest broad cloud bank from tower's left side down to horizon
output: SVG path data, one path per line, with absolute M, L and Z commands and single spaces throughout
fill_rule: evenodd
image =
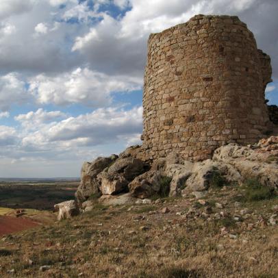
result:
M 119 153 L 142 132 L 142 107 L 59 116 L 38 110 L 16 116 L 16 128 L 0 126 L 0 176 L 78 176 L 84 160 Z

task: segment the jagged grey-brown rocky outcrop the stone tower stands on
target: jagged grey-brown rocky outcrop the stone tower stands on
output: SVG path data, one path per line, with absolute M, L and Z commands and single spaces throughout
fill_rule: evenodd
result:
M 258 179 L 264 186 L 278 188 L 278 137 L 275 136 L 245 147 L 227 144 L 214 151 L 212 160 L 194 163 L 172 152 L 146 166 L 136 158 L 138 153 L 139 147 L 130 147 L 119 157 L 99 157 L 84 164 L 77 192 L 86 189 L 84 185 L 88 180 L 90 192 L 101 195 L 83 202 L 84 212 L 92 210 L 95 202 L 105 205 L 146 203 L 151 202 L 149 198 L 154 195 L 200 199 L 211 186 L 241 184 L 250 178 Z M 82 196 L 86 196 L 85 193 L 86 190 Z M 66 212 L 60 215 L 60 218 L 68 217 Z

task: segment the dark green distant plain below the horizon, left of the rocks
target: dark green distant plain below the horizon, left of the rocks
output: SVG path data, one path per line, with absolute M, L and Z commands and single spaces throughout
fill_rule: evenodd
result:
M 79 181 L 0 181 L 0 207 L 53 210 L 74 198 Z

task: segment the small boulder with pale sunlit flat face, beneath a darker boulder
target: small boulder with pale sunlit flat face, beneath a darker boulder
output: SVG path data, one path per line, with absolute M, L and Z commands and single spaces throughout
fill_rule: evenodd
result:
M 109 174 L 103 171 L 97 176 L 97 180 L 100 184 L 101 193 L 105 195 L 117 194 L 127 189 L 127 179 L 118 173 Z

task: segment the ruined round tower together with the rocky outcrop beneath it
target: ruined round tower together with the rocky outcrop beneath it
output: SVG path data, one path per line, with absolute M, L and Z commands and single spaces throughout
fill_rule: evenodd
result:
M 270 57 L 237 16 L 197 15 L 151 34 L 142 146 L 84 162 L 71 210 L 202 196 L 214 183 L 247 179 L 276 191 L 278 108 L 264 96 L 270 81 Z

